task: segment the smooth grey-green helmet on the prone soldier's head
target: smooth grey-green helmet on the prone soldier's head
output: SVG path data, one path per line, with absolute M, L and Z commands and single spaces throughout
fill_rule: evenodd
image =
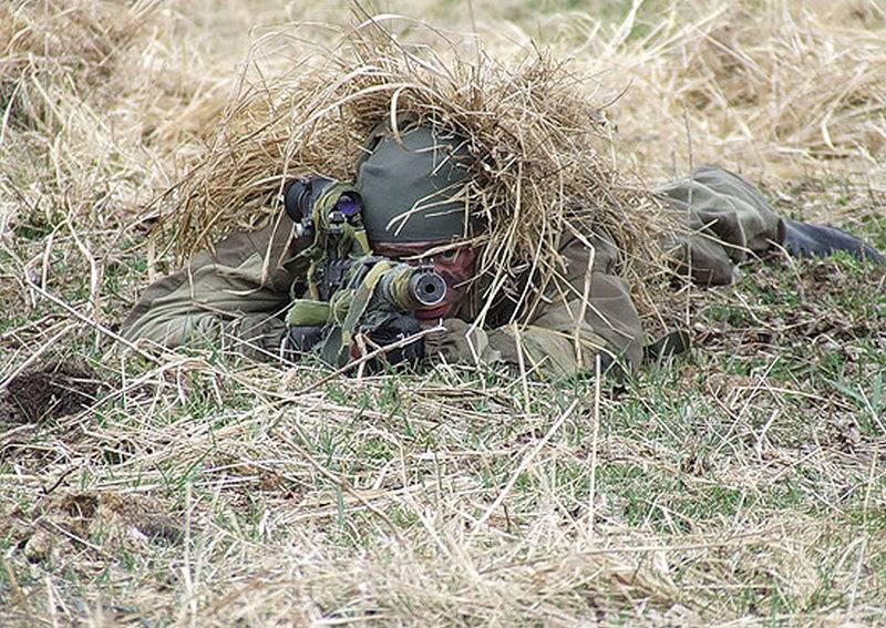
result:
M 401 143 L 402 142 L 402 143 Z M 429 126 L 375 136 L 357 189 L 371 243 L 443 241 L 470 231 L 463 187 L 470 178 L 466 142 Z

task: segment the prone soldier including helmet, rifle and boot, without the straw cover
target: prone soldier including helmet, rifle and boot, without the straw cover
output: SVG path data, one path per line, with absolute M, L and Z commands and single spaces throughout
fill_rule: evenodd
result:
M 560 235 L 565 289 L 546 295 L 528 325 L 472 326 L 475 292 L 483 289 L 476 277 L 483 226 L 459 199 L 474 163 L 465 145 L 430 124 L 403 124 L 396 137 L 380 124 L 352 186 L 322 177 L 290 184 L 287 212 L 272 225 L 234 233 L 214 253 L 198 254 L 150 286 L 124 321 L 124 336 L 171 348 L 234 341 L 257 359 L 317 353 L 341 366 L 359 356 L 360 334 L 390 344 L 436 326 L 389 361 L 523 359 L 553 378 L 587 369 L 596 354 L 639 367 L 647 338 L 617 243 L 598 229 Z M 756 187 L 717 166 L 657 193 L 686 217 L 690 230 L 669 244 L 700 284 L 731 282 L 749 251 L 772 247 L 801 257 L 845 250 L 883 261 L 838 229 L 780 217 Z M 425 300 L 402 289 L 400 299 L 396 290 L 385 292 L 394 284 L 414 288 L 422 277 Z

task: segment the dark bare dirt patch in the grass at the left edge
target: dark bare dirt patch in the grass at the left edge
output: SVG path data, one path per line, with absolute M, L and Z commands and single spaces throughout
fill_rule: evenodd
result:
M 82 362 L 44 362 L 14 378 L 0 398 L 0 422 L 42 423 L 87 408 L 102 387 Z

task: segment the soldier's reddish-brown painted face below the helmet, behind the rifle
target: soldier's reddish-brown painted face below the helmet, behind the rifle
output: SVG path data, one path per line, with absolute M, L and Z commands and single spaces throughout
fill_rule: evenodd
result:
M 432 326 L 442 318 L 456 316 L 467 300 L 471 282 L 475 277 L 477 249 L 463 246 L 427 255 L 429 250 L 440 247 L 440 243 L 374 243 L 372 246 L 372 250 L 378 255 L 402 260 L 413 266 L 431 264 L 446 281 L 446 298 L 440 305 L 415 310 L 415 318 L 423 326 Z

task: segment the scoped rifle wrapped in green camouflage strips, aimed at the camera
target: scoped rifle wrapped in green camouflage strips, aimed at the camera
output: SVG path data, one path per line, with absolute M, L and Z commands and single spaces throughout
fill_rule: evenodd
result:
M 352 356 L 356 334 L 390 344 L 421 330 L 414 312 L 446 297 L 431 265 L 411 266 L 374 255 L 362 220 L 362 199 L 348 183 L 311 176 L 290 182 L 284 206 L 299 237 L 312 243 L 297 259 L 308 264 L 307 291 L 286 317 L 288 349 L 317 351 L 331 364 Z M 286 344 L 285 343 L 285 344 Z M 416 362 L 422 341 L 392 351 L 388 362 Z

